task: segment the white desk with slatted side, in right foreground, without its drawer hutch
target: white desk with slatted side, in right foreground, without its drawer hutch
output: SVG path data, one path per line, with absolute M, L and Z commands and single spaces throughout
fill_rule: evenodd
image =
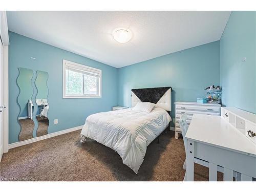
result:
M 242 181 L 256 178 L 256 145 L 223 117 L 194 114 L 185 138 L 188 181 L 194 181 L 194 157 L 209 162 L 210 181 L 217 181 L 217 165 L 224 167 L 224 181 L 233 181 L 233 170 Z

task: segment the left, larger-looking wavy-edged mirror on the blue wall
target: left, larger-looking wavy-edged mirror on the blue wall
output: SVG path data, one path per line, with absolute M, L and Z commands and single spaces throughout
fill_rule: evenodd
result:
M 32 120 L 33 113 L 33 87 L 31 79 L 33 71 L 31 69 L 18 68 L 19 75 L 17 78 L 17 85 L 19 87 L 19 95 L 17 102 L 20 108 L 18 121 L 20 124 L 19 141 L 24 141 L 33 138 L 34 121 Z

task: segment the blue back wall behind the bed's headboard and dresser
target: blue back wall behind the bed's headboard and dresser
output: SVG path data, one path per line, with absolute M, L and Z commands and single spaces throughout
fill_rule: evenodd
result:
M 170 86 L 174 119 L 174 102 L 196 101 L 204 88 L 219 85 L 219 53 L 215 41 L 118 69 L 118 104 L 131 106 L 131 89 Z

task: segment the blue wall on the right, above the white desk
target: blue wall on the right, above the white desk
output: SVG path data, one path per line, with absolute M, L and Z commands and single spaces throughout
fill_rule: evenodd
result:
M 220 40 L 222 104 L 256 114 L 255 47 L 256 11 L 232 11 Z

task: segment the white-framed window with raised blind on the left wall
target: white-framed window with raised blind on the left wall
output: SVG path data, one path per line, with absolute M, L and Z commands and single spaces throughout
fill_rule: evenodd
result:
M 63 98 L 92 97 L 101 97 L 101 70 L 63 60 Z

